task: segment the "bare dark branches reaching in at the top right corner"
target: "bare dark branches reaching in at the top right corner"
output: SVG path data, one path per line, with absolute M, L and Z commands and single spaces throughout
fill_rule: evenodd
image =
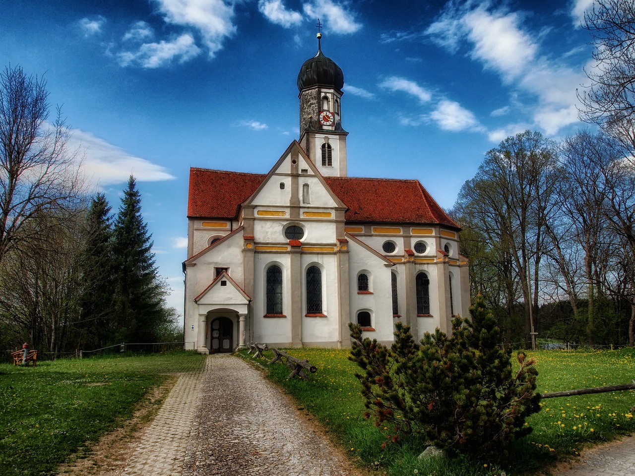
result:
M 578 91 L 582 121 L 594 122 L 635 152 L 635 3 L 596 0 L 584 15 L 595 46 L 591 84 Z

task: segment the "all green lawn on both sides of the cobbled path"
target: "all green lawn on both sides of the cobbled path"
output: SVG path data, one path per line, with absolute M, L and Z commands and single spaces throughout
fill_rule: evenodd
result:
M 363 417 L 357 371 L 347 350 L 293 349 L 318 367 L 307 380 L 286 380 L 290 369 L 267 366 L 272 353 L 258 363 L 270 378 L 295 397 L 301 411 L 313 414 L 354 461 L 378 474 L 507 476 L 536 474 L 540 468 L 572 458 L 585 444 L 635 432 L 631 407 L 635 392 L 612 392 L 542 401 L 531 416 L 534 431 L 510 449 L 502 461 L 467 459 L 420 461 L 425 442 L 407 439 L 382 448 L 381 428 Z M 631 382 L 635 351 L 577 350 L 535 352 L 541 392 L 599 387 Z M 251 357 L 246 357 L 249 360 Z M 0 475 L 35 476 L 55 468 L 100 435 L 129 418 L 161 385 L 168 373 L 197 371 L 204 356 L 175 352 L 148 356 L 101 357 L 40 362 L 37 367 L 0 365 Z

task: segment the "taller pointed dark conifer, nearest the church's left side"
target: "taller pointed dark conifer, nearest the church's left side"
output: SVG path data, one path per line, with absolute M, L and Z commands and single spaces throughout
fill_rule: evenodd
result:
M 130 176 L 114 223 L 119 340 L 152 342 L 164 320 L 164 284 L 159 278 L 151 238 L 141 215 L 137 182 Z

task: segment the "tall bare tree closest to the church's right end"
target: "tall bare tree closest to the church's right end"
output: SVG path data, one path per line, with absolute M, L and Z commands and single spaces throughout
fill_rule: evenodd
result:
M 511 317 L 519 285 L 525 336 L 535 328 L 544 226 L 558 181 L 554 144 L 538 132 L 510 136 L 487 152 L 474 179 L 461 188 L 457 208 L 496 249 L 507 284 Z

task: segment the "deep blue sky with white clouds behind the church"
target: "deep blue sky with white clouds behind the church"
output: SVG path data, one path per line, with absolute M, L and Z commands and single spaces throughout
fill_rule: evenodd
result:
M 300 65 L 344 71 L 350 176 L 417 178 L 444 208 L 487 150 L 585 128 L 591 0 L 0 0 L 0 59 L 48 81 L 113 211 L 132 173 L 182 312 L 190 166 L 266 173 L 298 138 Z

